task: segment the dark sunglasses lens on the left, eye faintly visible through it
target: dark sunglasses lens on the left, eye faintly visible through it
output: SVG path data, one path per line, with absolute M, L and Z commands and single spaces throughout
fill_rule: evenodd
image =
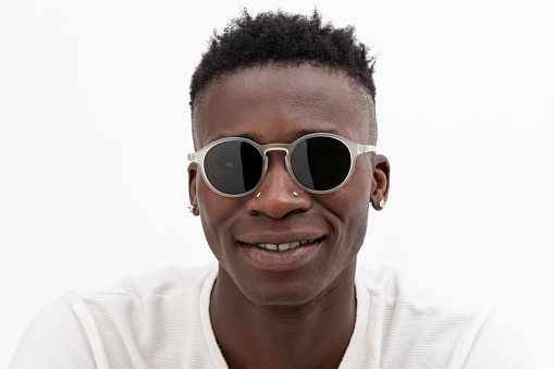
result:
M 239 195 L 253 189 L 261 177 L 261 153 L 245 142 L 213 146 L 204 158 L 204 171 L 211 185 L 222 193 Z

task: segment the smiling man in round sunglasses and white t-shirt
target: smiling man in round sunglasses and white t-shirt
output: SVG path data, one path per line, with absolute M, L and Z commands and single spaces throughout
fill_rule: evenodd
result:
M 427 305 L 357 268 L 389 194 L 372 67 L 317 13 L 235 20 L 190 84 L 190 210 L 219 265 L 69 293 L 12 367 L 530 367 L 494 311 Z

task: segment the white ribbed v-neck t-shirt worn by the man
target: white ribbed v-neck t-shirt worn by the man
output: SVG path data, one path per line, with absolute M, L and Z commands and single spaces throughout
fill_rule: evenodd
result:
M 209 317 L 217 265 L 170 267 L 93 292 L 69 292 L 27 328 L 19 368 L 227 368 Z M 344 368 L 533 368 L 493 309 L 406 296 L 396 273 L 356 274 L 356 324 Z

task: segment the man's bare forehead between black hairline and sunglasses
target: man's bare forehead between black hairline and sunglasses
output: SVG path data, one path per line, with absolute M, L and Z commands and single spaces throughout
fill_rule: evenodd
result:
M 301 64 L 255 66 L 220 77 L 195 102 L 197 147 L 229 136 L 259 144 L 293 142 L 307 132 L 334 132 L 366 143 L 374 123 L 368 94 L 341 71 Z

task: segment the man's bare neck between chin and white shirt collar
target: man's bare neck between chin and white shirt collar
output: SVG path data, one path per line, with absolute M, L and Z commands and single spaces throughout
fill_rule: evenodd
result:
M 230 368 L 337 368 L 354 332 L 356 262 L 312 300 L 249 300 L 220 267 L 210 300 L 213 332 Z

